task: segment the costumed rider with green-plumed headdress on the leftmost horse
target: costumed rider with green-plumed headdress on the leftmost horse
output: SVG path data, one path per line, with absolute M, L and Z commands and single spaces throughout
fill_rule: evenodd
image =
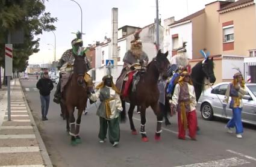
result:
M 57 104 L 60 103 L 61 92 L 69 80 L 70 74 L 73 72 L 73 61 L 75 60 L 74 56 L 82 56 L 86 54 L 87 49 L 83 47 L 83 40 L 81 39 L 81 36 L 81 32 L 78 31 L 76 33 L 76 38 L 71 41 L 72 49 L 66 50 L 59 60 L 58 69 L 60 70 L 60 80 L 54 94 L 54 102 Z M 87 71 L 89 71 L 92 69 L 90 61 L 86 56 L 84 57 L 87 65 Z M 85 74 L 84 78 L 88 89 L 93 92 L 92 78 L 87 73 Z

